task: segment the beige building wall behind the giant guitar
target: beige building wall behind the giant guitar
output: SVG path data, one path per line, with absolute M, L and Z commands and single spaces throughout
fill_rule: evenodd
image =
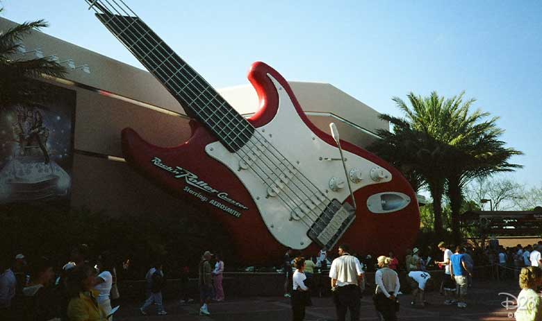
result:
M 13 25 L 12 21 L 0 18 L 0 30 Z M 40 48 L 45 56 L 57 55 L 60 60 L 73 59 L 76 65 L 90 67 L 90 74 L 73 70 L 65 77 L 67 81 L 53 82 L 77 93 L 72 205 L 106 210 L 112 215 L 178 211 L 179 207 L 186 207 L 133 172 L 126 163 L 107 159 L 108 155 L 122 156 L 120 132 L 126 127 L 134 128 L 159 146 L 182 144 L 190 137 L 188 118 L 160 83 L 147 71 L 44 33 L 34 32 L 23 43 L 28 51 Z M 23 57 L 19 54 L 16 58 Z M 33 58 L 31 54 L 26 57 Z M 377 118 L 378 112 L 332 85 L 290 85 L 309 118 L 326 132 L 334 121 L 343 139 L 367 146 L 375 137 L 361 129 L 388 129 L 388 123 Z M 96 89 L 124 98 L 106 96 Z M 241 114 L 252 114 L 258 107 L 256 92 L 249 85 L 219 92 Z M 141 102 L 149 105 L 144 107 Z

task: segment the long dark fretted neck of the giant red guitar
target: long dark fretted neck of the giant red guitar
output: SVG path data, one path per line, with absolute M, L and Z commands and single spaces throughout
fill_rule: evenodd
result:
M 97 17 L 228 150 L 233 153 L 249 141 L 254 127 L 139 17 L 110 13 Z

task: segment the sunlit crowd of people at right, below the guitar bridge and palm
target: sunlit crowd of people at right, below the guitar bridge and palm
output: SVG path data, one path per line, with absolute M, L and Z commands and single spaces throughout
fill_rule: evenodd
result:
M 365 272 L 375 268 L 375 292 L 373 301 L 379 320 L 397 320 L 396 311 L 399 309 L 397 295 L 400 292 L 400 279 L 398 273 L 405 272 L 411 290 L 411 306 L 423 309 L 427 304 L 425 288 L 432 281 L 432 275 L 427 271 L 429 266 L 443 269 L 443 278 L 439 292 L 444 295 L 443 304 L 456 304 L 458 308 L 466 308 L 468 304 L 468 288 L 473 284 L 475 257 L 481 268 L 490 271 L 488 277 L 502 279 L 516 277 L 519 280 L 521 291 L 518 296 L 517 320 L 542 320 L 542 302 L 539 293 L 542 277 L 542 241 L 534 245 L 517 245 L 514 248 L 500 247 L 475 250 L 470 245 L 448 246 L 445 242 L 436 246 L 442 252 L 442 260 L 432 260 L 430 254 L 436 253 L 430 249 L 422 251 L 419 248 L 407 250 L 404 261 L 401 262 L 393 252 L 389 256 L 379 256 L 372 261 L 372 256 L 357 256 L 351 254 L 348 245 L 340 245 L 338 257 L 331 263 L 329 278 L 331 279 L 331 292 L 333 293 L 336 313 L 339 321 L 345 320 L 347 311 L 350 311 L 350 320 L 359 320 L 360 297 L 367 283 L 371 280 L 364 278 Z M 453 248 L 453 251 L 451 250 Z M 286 281 L 285 297 L 291 297 L 293 320 L 304 320 L 304 307 L 312 304 L 310 300 L 311 286 L 316 286 L 312 273 L 306 272 L 306 267 L 313 264 L 312 258 L 305 260 L 299 256 L 293 259 L 293 278 L 290 284 L 290 259 L 293 250 L 288 249 L 284 256 L 284 270 Z M 322 251 L 320 252 L 322 253 Z M 322 255 L 322 261 L 326 255 Z M 320 258 L 318 265 L 322 264 Z M 373 264 L 374 263 L 374 264 Z M 481 270 L 480 270 L 481 271 Z M 496 271 L 493 273 L 493 271 Z M 436 285 L 436 284 L 435 284 Z M 436 285 L 438 286 L 438 285 Z M 291 291 L 291 295 L 290 292 Z M 525 302 L 529 302 L 528 304 Z

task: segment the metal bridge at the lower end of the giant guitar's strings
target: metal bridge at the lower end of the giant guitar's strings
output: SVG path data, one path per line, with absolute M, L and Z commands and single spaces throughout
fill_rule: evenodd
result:
M 346 232 L 356 218 L 356 210 L 350 204 L 332 200 L 313 223 L 307 236 L 325 250 L 331 250 L 340 236 Z

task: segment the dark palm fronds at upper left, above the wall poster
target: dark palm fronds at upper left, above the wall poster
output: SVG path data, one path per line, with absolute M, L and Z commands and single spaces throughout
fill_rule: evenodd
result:
M 0 8 L 0 12 L 3 8 Z M 14 55 L 22 48 L 22 39 L 32 31 L 47 27 L 44 20 L 24 22 L 0 31 L 0 108 L 11 105 L 46 103 L 53 98 L 46 84 L 35 79 L 61 77 L 66 69 L 57 62 L 38 58 L 22 60 Z

